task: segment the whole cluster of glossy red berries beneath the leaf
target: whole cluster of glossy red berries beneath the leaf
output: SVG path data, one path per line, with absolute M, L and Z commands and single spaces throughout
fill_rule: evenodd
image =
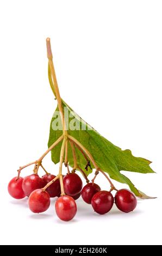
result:
M 60 196 L 61 188 L 59 179 L 55 180 L 46 191 L 43 187 L 55 178 L 52 174 L 45 174 L 42 178 L 37 174 L 13 178 L 8 185 L 9 194 L 21 199 L 29 197 L 29 209 L 35 213 L 46 211 L 50 205 L 50 197 L 58 197 L 55 203 L 55 211 L 63 221 L 70 221 L 76 215 L 77 200 L 82 194 L 83 200 L 92 205 L 98 214 L 106 214 L 114 204 L 114 197 L 109 191 L 101 191 L 97 184 L 88 183 L 83 187 L 82 180 L 76 173 L 66 174 L 63 179 L 66 195 Z M 83 189 L 82 189 L 83 187 Z M 115 204 L 123 212 L 133 211 L 137 201 L 134 194 L 126 189 L 122 189 L 115 194 Z

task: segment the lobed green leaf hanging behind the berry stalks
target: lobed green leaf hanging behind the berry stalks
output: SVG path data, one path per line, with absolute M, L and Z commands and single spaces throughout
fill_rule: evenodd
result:
M 154 173 L 149 164 L 150 161 L 135 157 L 132 155 L 129 149 L 122 150 L 116 147 L 113 143 L 109 142 L 103 136 L 101 136 L 95 129 L 93 129 L 89 124 L 85 123 L 83 119 L 79 117 L 73 110 L 62 101 L 63 109 L 66 107 L 68 109 L 68 123 L 73 122 L 77 128 L 80 130 L 72 130 L 71 127 L 68 129 L 68 133 L 76 138 L 80 143 L 84 145 L 86 149 L 94 157 L 99 168 L 104 172 L 108 173 L 111 179 L 119 181 L 123 184 L 127 184 L 136 196 L 141 198 L 146 198 L 147 196 L 140 192 L 134 184 L 127 178 L 127 176 L 120 173 L 120 170 L 127 170 L 129 172 L 138 173 Z M 55 110 L 53 118 L 51 120 L 50 133 L 48 147 L 50 147 L 62 134 L 61 130 L 53 130 L 53 124 L 57 120 L 60 120 L 60 116 L 55 115 L 58 112 L 58 107 Z M 61 121 L 59 121 L 61 123 Z M 67 120 L 66 120 L 67 123 Z M 86 127 L 86 130 L 82 130 L 82 127 Z M 61 142 L 51 151 L 52 161 L 54 163 L 59 162 L 60 157 Z M 86 160 L 80 151 L 76 148 L 77 164 L 84 170 L 86 175 L 92 172 L 89 168 L 88 171 L 85 170 Z M 73 167 L 73 155 L 70 144 L 68 143 L 68 161 L 71 167 Z M 92 166 L 92 164 L 91 164 Z M 92 166 L 94 168 L 94 166 Z

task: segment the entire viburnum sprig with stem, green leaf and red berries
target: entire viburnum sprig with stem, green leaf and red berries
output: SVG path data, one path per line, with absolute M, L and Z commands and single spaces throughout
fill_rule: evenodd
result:
M 75 114 L 72 108 L 70 108 L 66 104 L 66 102 L 64 102 L 61 99 L 57 78 L 55 75 L 54 65 L 53 65 L 53 56 L 52 56 L 50 39 L 47 38 L 46 42 L 47 42 L 47 57 L 48 57 L 48 79 L 49 79 L 52 92 L 55 96 L 55 99 L 58 101 L 58 106 L 55 111 L 55 114 L 58 112 L 58 109 L 59 109 L 59 117 L 61 119 L 61 126 L 62 126 L 61 127 L 62 135 L 57 139 L 57 141 L 53 143 L 53 139 L 57 137 L 57 131 L 53 129 L 53 119 L 54 121 L 57 121 L 57 120 L 53 115 L 51 126 L 50 126 L 50 136 L 48 140 L 48 144 L 50 145 L 52 143 L 53 144 L 51 145 L 51 147 L 49 147 L 46 150 L 46 152 L 38 160 L 32 163 L 28 163 L 17 170 L 18 172 L 17 177 L 16 178 L 14 177 L 13 179 L 11 179 L 8 184 L 9 194 L 12 197 L 17 199 L 21 199 L 21 198 L 24 198 L 25 196 L 29 196 L 29 200 L 28 200 L 29 208 L 31 211 L 35 213 L 46 211 L 50 204 L 49 197 L 52 197 L 55 194 L 55 196 L 56 195 L 59 196 L 55 204 L 55 210 L 58 217 L 64 221 L 72 220 L 72 218 L 77 212 L 77 206 L 74 200 L 79 198 L 81 194 L 80 191 L 82 190 L 82 180 L 80 180 L 79 176 L 74 172 L 76 170 L 79 170 L 84 176 L 86 182 L 89 183 L 89 179 L 88 179 L 89 172 L 85 172 L 85 170 L 88 171 L 89 167 L 91 168 L 91 165 L 92 165 L 92 168 L 96 169 L 95 176 L 92 179 L 92 184 L 90 183 L 83 188 L 82 190 L 83 200 L 86 203 L 91 203 L 92 208 L 94 208 L 95 212 L 97 212 L 98 214 L 105 214 L 112 208 L 114 203 L 114 197 L 111 193 L 109 193 L 109 191 L 110 192 L 113 190 L 117 191 L 117 189 L 115 188 L 113 182 L 111 182 L 109 176 L 106 174 L 106 173 L 109 174 L 109 172 L 111 171 L 111 172 L 114 172 L 114 175 L 115 174 L 118 175 L 118 178 L 119 178 L 118 181 L 122 183 L 125 182 L 127 185 L 129 185 L 130 190 L 132 190 L 135 193 L 133 194 L 131 191 L 128 191 L 126 189 L 118 191 L 115 195 L 115 204 L 117 208 L 119 208 L 123 212 L 133 211 L 137 203 L 135 195 L 140 198 L 151 198 L 151 197 L 148 197 L 146 194 L 142 193 L 141 191 L 138 191 L 126 176 L 123 176 L 122 174 L 120 174 L 121 166 L 124 166 L 123 170 L 130 170 L 132 172 L 153 173 L 152 168 L 149 167 L 149 164 L 151 162 L 146 159 L 142 159 L 141 157 L 140 158 L 134 157 L 130 150 L 121 150 L 120 148 L 117 148 L 114 144 L 110 143 L 107 139 L 100 136 L 95 129 L 93 129 L 91 126 L 88 125 L 88 123 L 86 123 L 77 114 Z M 76 119 L 73 121 L 77 121 L 79 124 L 82 125 L 82 130 L 86 130 L 84 129 L 84 127 L 85 128 L 91 127 L 92 132 L 86 131 L 86 135 L 89 137 L 89 140 L 85 138 L 85 132 L 80 131 L 79 133 L 79 141 L 80 142 L 84 141 L 85 146 L 82 143 L 80 143 L 76 138 L 68 134 L 69 132 L 66 129 L 67 123 L 65 120 L 66 108 L 67 108 L 67 113 L 72 114 L 74 119 Z M 88 130 L 91 130 L 91 129 L 88 129 Z M 75 135 L 76 133 L 73 131 L 73 129 L 71 129 L 70 133 L 76 136 Z M 91 142 L 91 139 L 93 140 L 92 148 L 91 148 L 91 144 L 89 144 L 89 142 Z M 68 142 L 70 143 L 70 145 L 68 145 Z M 53 149 L 58 143 L 60 144 L 57 147 L 58 152 L 56 152 L 56 150 L 53 150 Z M 99 156 L 97 157 L 99 148 L 102 148 L 102 150 L 100 150 L 101 154 L 99 154 Z M 116 148 L 118 150 L 116 150 Z M 108 151 L 108 149 L 111 150 L 112 154 L 109 155 L 109 158 L 105 157 L 104 159 L 104 154 L 105 152 Z M 52 154 L 51 154 L 52 161 L 54 163 L 59 162 L 59 173 L 56 177 L 54 176 L 55 177 L 54 179 L 49 181 L 48 184 L 46 184 L 43 188 L 40 188 L 42 187 L 42 182 L 41 182 L 42 179 L 38 175 L 37 176 L 29 175 L 24 179 L 20 177 L 20 173 L 23 168 L 26 168 L 27 166 L 35 164 L 34 170 L 33 170 L 34 174 L 38 174 L 38 169 L 39 167 L 41 167 L 46 173 L 46 175 L 43 176 L 43 179 L 45 178 L 43 182 L 47 181 L 48 179 L 50 180 L 52 175 L 48 176 L 49 173 L 42 166 L 42 160 L 51 150 L 52 150 Z M 70 150 L 70 152 L 68 150 Z M 58 154 L 60 154 L 59 159 L 58 159 Z M 117 160 L 119 160 L 119 157 L 121 161 L 124 161 L 124 164 L 121 163 L 121 166 L 119 166 L 119 164 L 117 165 Z M 103 162 L 103 159 L 104 159 L 104 162 Z M 73 164 L 72 174 L 70 174 L 70 169 L 68 167 L 68 160 L 70 161 L 71 165 Z M 84 169 L 85 161 L 86 161 L 86 166 Z M 114 164 L 111 166 L 111 170 L 110 170 L 109 164 L 112 162 Z M 65 191 L 64 191 L 64 183 L 63 183 L 63 174 L 62 174 L 63 163 L 65 163 L 65 166 L 67 167 L 67 172 L 68 174 L 70 174 L 70 175 L 66 175 L 66 178 L 65 178 L 66 185 L 67 185 L 67 186 L 65 185 Z M 141 165 L 141 168 L 139 168 L 139 163 Z M 102 169 L 100 169 L 99 166 L 102 167 Z M 101 172 L 105 176 L 105 178 L 109 181 L 110 190 L 100 191 L 99 193 L 95 194 L 95 197 L 91 198 L 92 193 L 100 190 L 99 186 L 97 184 L 94 184 L 96 176 L 98 175 L 99 172 Z M 113 175 L 112 177 L 114 178 Z M 16 182 L 17 179 L 19 180 Z M 57 188 L 58 188 L 57 186 L 56 187 L 53 186 L 53 189 L 51 191 L 48 190 L 49 193 L 45 192 L 47 188 L 51 186 L 55 181 L 60 182 L 61 191 L 59 191 L 59 194 L 57 191 Z M 53 185 L 57 185 L 57 182 L 56 184 L 53 184 Z M 38 189 L 34 190 L 34 188 L 38 188 Z M 89 191 L 87 190 L 87 188 Z M 84 193 L 83 191 L 84 192 L 86 191 L 86 193 Z M 68 194 L 74 194 L 74 196 L 70 197 L 68 196 Z M 104 200 L 105 202 L 102 202 L 103 197 L 105 198 Z M 128 200 L 130 197 L 131 197 L 131 202 L 128 202 L 128 204 L 125 204 L 124 202 L 126 200 L 130 201 Z M 61 236 L 63 236 L 63 234 L 61 234 Z

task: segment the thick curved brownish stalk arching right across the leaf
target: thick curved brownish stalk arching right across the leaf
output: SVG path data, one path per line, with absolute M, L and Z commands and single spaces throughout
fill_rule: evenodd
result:
M 97 163 L 94 160 L 94 157 L 92 157 L 92 155 L 90 154 L 90 152 L 73 136 L 68 135 L 68 138 L 70 139 L 70 141 L 74 142 L 75 144 L 77 144 L 80 148 L 82 148 L 82 150 L 84 151 L 84 153 L 89 157 L 90 161 L 92 162 L 92 164 L 94 164 L 94 167 L 96 170 L 98 170 L 99 172 L 103 173 L 103 175 L 105 176 L 105 178 L 107 178 L 107 180 L 110 183 L 111 188 L 113 188 L 113 190 L 116 190 L 113 182 L 111 182 L 111 180 L 109 179 L 109 177 L 103 172 L 103 170 L 101 170 L 98 166 Z

